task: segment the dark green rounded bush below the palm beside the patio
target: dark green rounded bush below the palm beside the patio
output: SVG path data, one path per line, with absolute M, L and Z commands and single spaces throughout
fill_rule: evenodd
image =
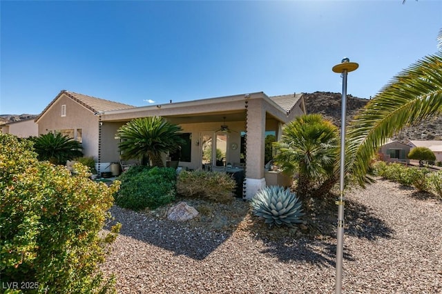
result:
M 176 171 L 173 168 L 133 166 L 120 177 L 115 204 L 132 210 L 155 209 L 175 199 Z

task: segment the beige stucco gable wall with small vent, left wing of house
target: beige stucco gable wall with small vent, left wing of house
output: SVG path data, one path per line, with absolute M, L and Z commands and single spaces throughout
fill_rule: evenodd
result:
M 61 117 L 61 105 L 66 105 L 66 117 Z M 97 160 L 99 117 L 73 99 L 61 95 L 38 119 L 37 124 L 39 135 L 53 130 L 81 128 L 84 156 Z

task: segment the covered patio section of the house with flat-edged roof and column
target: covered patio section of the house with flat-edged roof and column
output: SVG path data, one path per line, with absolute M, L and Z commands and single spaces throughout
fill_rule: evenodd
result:
M 160 116 L 182 127 L 179 166 L 187 170 L 234 173 L 244 170 L 242 197 L 265 183 L 265 137 L 280 138 L 282 125 L 304 114 L 302 94 L 268 97 L 264 92 L 200 99 L 97 113 L 98 166 L 119 161 L 117 129 L 137 117 Z M 164 155 L 166 161 L 175 155 Z

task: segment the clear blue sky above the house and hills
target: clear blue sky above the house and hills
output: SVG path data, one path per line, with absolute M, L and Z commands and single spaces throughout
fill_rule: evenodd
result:
M 0 1 L 0 114 L 60 90 L 133 106 L 263 91 L 376 95 L 437 51 L 442 1 Z M 154 101 L 154 102 L 152 102 Z

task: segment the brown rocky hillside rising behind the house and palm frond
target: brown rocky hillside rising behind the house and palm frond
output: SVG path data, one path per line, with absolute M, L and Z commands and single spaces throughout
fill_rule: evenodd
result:
M 340 126 L 340 101 L 342 95 L 332 92 L 314 92 L 305 95 L 308 113 L 320 113 Z M 365 106 L 369 100 L 347 95 L 347 119 Z M 442 140 L 442 116 L 422 121 L 416 126 L 403 128 L 393 139 L 407 140 Z

